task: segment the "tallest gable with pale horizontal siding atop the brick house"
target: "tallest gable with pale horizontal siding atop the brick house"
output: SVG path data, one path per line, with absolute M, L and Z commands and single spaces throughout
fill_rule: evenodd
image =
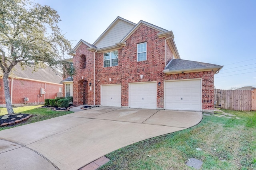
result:
M 108 28 L 96 39 L 93 45 L 98 48 L 108 47 L 115 45 L 136 25 L 131 21 L 125 20 L 124 18 L 117 17 Z M 116 34 L 116 30 L 119 30 Z M 122 31 L 120 31 L 122 30 Z M 113 38 L 114 37 L 114 38 Z M 111 39 L 110 39 L 111 38 Z

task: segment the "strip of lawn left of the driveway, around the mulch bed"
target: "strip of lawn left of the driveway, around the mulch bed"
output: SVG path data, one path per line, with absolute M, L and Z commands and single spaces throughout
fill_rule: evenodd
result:
M 52 109 L 50 108 L 42 108 L 40 106 L 14 107 L 13 110 L 14 110 L 14 113 L 26 113 L 33 116 L 25 121 L 22 121 L 21 123 L 17 123 L 11 126 L 0 127 L 0 131 L 4 129 L 9 129 L 12 127 L 22 126 L 29 123 L 50 119 L 52 117 L 58 117 L 58 116 L 66 115 L 69 113 L 73 113 L 73 111 L 52 111 Z M 2 115 L 7 114 L 6 108 L 2 108 L 1 112 L 2 112 Z

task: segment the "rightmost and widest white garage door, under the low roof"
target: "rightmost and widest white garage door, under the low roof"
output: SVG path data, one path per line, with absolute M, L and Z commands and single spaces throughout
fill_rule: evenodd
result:
M 201 110 L 201 80 L 166 81 L 164 84 L 165 109 Z

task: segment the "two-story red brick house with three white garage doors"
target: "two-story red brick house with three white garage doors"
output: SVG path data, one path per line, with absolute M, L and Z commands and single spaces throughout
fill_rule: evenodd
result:
M 74 47 L 74 104 L 211 111 L 223 66 L 180 59 L 172 31 L 117 17 Z

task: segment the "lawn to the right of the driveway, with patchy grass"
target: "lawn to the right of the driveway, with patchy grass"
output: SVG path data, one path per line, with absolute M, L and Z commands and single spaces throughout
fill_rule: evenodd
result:
M 240 119 L 204 116 L 189 129 L 107 154 L 110 162 L 99 169 L 194 169 L 185 163 L 197 158 L 203 162 L 202 170 L 256 170 L 256 111 L 223 111 Z

